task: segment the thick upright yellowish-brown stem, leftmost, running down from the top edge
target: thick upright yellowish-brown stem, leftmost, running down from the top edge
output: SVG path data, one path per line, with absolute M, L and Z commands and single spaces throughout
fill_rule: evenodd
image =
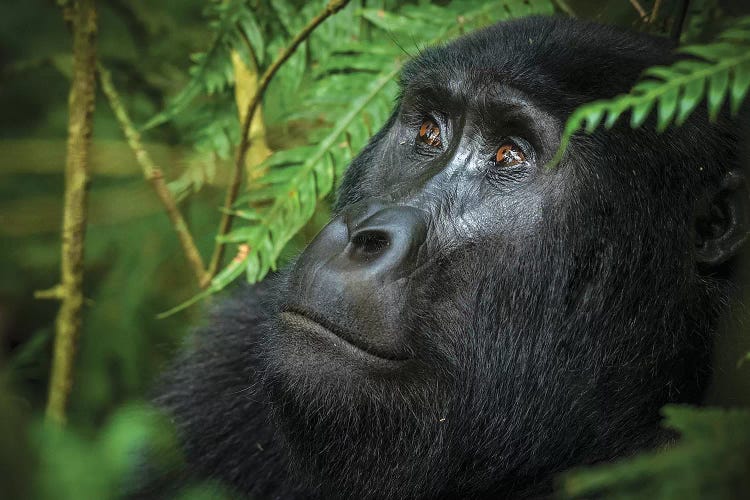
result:
M 73 78 L 68 98 L 60 284 L 51 289 L 61 303 L 55 322 L 55 346 L 47 399 L 47 418 L 59 424 L 65 423 L 66 407 L 73 387 L 73 365 L 84 302 L 83 251 L 96 95 L 97 15 L 94 1 L 73 1 L 63 9 L 73 29 Z M 48 296 L 52 295 L 50 292 Z

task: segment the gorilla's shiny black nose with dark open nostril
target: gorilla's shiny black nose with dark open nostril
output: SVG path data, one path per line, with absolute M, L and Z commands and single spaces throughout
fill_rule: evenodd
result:
M 374 275 L 400 274 L 425 239 L 424 217 L 415 208 L 370 205 L 364 215 L 344 218 L 349 234 L 345 253 L 352 270 L 368 267 Z

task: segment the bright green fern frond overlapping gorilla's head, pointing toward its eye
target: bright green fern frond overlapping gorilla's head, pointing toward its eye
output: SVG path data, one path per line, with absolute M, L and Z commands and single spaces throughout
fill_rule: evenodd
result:
M 731 113 L 736 114 L 750 88 L 750 17 L 734 23 L 716 42 L 687 46 L 680 52 L 696 59 L 649 68 L 629 93 L 576 109 L 565 124 L 560 147 L 548 168 L 560 163 L 570 139 L 579 130 L 591 134 L 600 125 L 612 128 L 626 112 L 630 112 L 630 126 L 637 128 L 656 108 L 658 132 L 685 123 L 704 98 L 712 121 L 727 97 Z

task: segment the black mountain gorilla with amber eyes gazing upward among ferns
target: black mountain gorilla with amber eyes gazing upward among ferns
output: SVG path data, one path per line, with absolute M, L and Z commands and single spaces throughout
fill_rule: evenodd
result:
M 557 18 L 424 50 L 333 220 L 239 292 L 158 398 L 180 481 L 255 498 L 477 498 L 663 441 L 695 402 L 747 234 L 736 140 L 702 111 L 576 136 L 669 43 Z

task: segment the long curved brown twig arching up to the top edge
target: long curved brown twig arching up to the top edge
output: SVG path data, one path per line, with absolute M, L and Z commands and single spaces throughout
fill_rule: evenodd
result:
M 348 3 L 349 0 L 329 0 L 323 11 L 312 18 L 310 22 L 307 23 L 307 25 L 302 28 L 299 33 L 297 33 L 289 46 L 286 47 L 284 51 L 279 54 L 276 60 L 268 67 L 268 69 L 263 72 L 263 76 L 261 76 L 258 84 L 258 90 L 248 103 L 247 113 L 245 113 L 245 120 L 242 123 L 240 145 L 237 148 L 232 180 L 230 181 L 229 188 L 227 189 L 227 195 L 224 199 L 224 210 L 221 216 L 221 222 L 219 223 L 219 231 L 217 235 L 218 237 L 224 236 L 232 229 L 232 222 L 234 220 L 232 207 L 240 191 L 240 185 L 242 184 L 242 172 L 245 166 L 245 157 L 247 156 L 247 151 L 250 148 L 250 124 L 253 121 L 253 116 L 255 116 L 255 111 L 257 110 L 258 105 L 263 99 L 263 94 L 268 88 L 268 85 L 271 83 L 271 79 L 274 77 L 279 68 L 281 68 L 281 66 L 292 56 L 292 54 L 294 54 L 294 51 L 297 50 L 300 44 L 302 44 L 302 42 L 304 42 L 310 36 L 310 34 L 312 34 L 315 28 L 320 26 L 320 24 L 330 16 L 343 9 Z M 219 239 L 217 238 L 214 252 L 211 257 L 211 262 L 208 266 L 208 272 L 206 273 L 206 278 L 203 281 L 204 287 L 208 286 L 211 282 L 211 279 L 216 276 L 216 273 L 221 266 L 221 261 L 224 258 L 225 248 L 226 244 L 219 241 Z

